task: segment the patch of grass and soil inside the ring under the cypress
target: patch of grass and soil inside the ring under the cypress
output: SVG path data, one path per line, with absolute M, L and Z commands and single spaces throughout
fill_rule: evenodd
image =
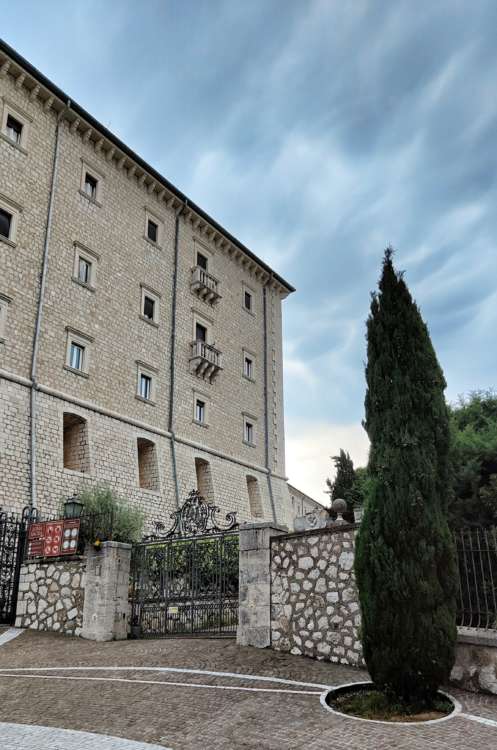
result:
M 409 704 L 392 701 L 385 693 L 371 687 L 350 687 L 328 696 L 328 704 L 335 711 L 377 721 L 432 721 L 452 713 L 453 703 L 441 693 L 431 703 Z

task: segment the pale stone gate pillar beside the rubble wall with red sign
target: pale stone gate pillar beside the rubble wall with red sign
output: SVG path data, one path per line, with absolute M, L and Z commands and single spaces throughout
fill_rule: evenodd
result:
M 86 588 L 81 637 L 119 641 L 128 637 L 131 544 L 104 542 L 86 549 Z

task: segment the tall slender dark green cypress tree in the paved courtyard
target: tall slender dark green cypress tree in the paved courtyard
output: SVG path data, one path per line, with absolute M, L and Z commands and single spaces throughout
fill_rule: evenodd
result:
M 391 248 L 367 344 L 372 487 L 355 563 L 364 658 L 380 689 L 429 702 L 449 677 L 456 641 L 446 383 Z

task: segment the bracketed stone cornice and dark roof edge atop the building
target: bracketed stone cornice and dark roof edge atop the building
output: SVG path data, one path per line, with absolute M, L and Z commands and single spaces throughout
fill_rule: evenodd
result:
M 154 196 L 159 203 L 165 203 L 173 210 L 185 206 L 183 221 L 191 222 L 195 232 L 213 243 L 234 262 L 243 266 L 260 283 L 271 285 L 281 297 L 295 291 L 284 279 L 275 274 L 251 250 L 211 219 L 204 211 L 193 204 L 172 183 L 156 172 L 124 143 L 119 141 L 103 125 L 98 123 L 77 103 L 45 78 L 28 61 L 21 58 L 0 40 L 0 77 L 11 75 L 17 88 L 24 88 L 29 99 L 37 102 L 45 112 L 54 111 L 67 122 L 73 134 L 78 134 L 84 143 L 92 144 L 97 153 L 123 171 L 128 179 L 136 180 L 146 194 Z

